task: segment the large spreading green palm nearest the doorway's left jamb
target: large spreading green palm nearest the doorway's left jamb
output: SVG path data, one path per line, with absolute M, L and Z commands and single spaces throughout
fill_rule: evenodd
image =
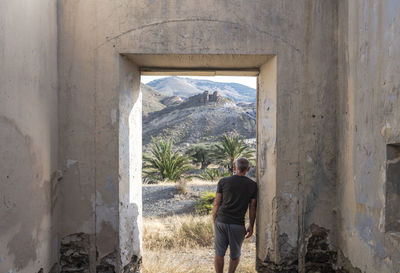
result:
M 189 159 L 172 149 L 172 140 L 152 139 L 150 155 L 143 155 L 146 178 L 178 181 L 190 169 Z

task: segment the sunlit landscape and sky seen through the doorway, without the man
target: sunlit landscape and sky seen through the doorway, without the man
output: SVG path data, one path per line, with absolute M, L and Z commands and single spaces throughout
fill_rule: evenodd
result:
M 256 88 L 255 76 L 141 77 L 142 272 L 213 272 L 217 183 L 241 156 L 256 180 Z M 242 250 L 237 272 L 255 273 L 255 236 Z

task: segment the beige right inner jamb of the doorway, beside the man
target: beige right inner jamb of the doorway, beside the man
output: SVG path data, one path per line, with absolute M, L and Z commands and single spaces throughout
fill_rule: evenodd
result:
M 276 200 L 276 115 L 277 74 L 276 57 L 271 58 L 260 68 L 257 79 L 257 256 L 271 256 L 277 259 L 279 250 L 273 240 L 276 227 L 276 208 L 271 206 Z

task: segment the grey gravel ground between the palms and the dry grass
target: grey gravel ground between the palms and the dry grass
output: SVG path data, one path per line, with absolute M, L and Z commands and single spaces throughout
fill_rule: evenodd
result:
M 143 185 L 143 216 L 169 216 L 195 212 L 202 192 L 217 190 L 216 183 L 187 185 L 187 194 L 178 194 L 175 185 Z

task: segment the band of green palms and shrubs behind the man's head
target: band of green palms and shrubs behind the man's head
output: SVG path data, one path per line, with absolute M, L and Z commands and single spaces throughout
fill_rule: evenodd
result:
M 222 135 L 218 143 L 174 147 L 171 139 L 152 139 L 143 155 L 143 177 L 147 183 L 177 182 L 198 177 L 215 181 L 233 173 L 233 163 L 241 156 L 252 161 L 255 150 L 237 134 Z M 208 168 L 214 165 L 215 168 Z M 200 168 L 200 169 L 199 169 Z

